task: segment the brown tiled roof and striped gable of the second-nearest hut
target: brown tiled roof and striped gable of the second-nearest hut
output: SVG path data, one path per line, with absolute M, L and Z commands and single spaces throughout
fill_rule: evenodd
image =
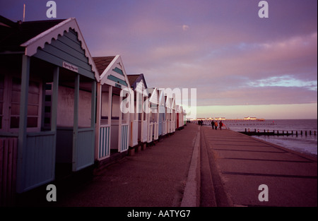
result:
M 93 60 L 100 73 L 98 81 L 102 85 L 106 83 L 117 88 L 130 88 L 124 64 L 119 54 L 116 56 L 98 56 L 94 57 Z

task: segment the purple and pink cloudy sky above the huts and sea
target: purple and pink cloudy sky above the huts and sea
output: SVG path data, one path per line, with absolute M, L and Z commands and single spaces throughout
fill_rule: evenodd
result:
M 56 0 L 92 56 L 120 54 L 148 87 L 196 88 L 196 117 L 317 119 L 317 1 Z M 11 20 L 47 20 L 47 1 L 0 1 Z M 191 106 L 191 102 L 188 104 Z

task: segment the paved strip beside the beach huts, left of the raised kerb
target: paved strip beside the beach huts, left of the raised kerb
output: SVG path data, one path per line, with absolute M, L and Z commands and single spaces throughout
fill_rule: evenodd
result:
M 188 124 L 146 150 L 110 165 L 73 193 L 65 196 L 57 193 L 57 205 L 180 206 L 198 128 Z

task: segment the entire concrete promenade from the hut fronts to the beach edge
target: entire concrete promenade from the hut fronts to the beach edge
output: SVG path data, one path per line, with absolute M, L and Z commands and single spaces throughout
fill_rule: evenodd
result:
M 259 186 L 269 201 L 259 201 Z M 92 179 L 42 189 L 34 205 L 74 207 L 317 207 L 317 157 L 230 130 L 187 124 Z M 261 195 L 264 197 L 264 195 Z M 26 203 L 35 198 L 31 191 Z

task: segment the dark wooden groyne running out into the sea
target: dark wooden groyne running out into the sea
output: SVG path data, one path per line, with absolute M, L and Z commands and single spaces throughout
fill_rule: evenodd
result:
M 254 131 L 250 131 L 249 129 L 245 129 L 245 131 L 240 131 L 240 133 L 244 133 L 246 135 L 252 136 L 252 135 L 257 135 L 257 136 L 316 136 L 316 131 L 279 131 L 279 130 L 264 130 L 264 131 L 259 131 L 257 129 L 254 129 Z

